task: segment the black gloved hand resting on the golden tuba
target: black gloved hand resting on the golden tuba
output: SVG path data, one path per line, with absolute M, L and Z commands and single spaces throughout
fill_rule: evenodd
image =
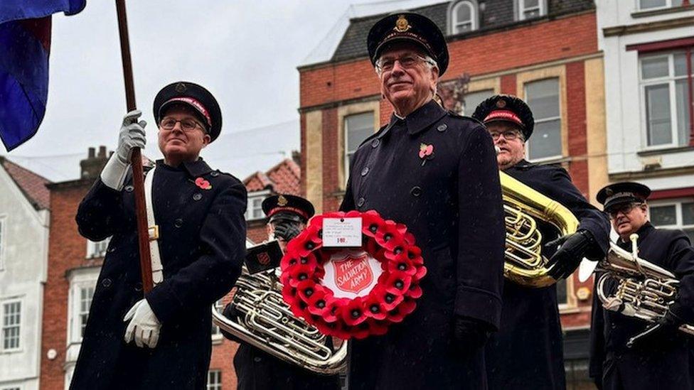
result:
M 545 244 L 545 251 L 559 247 L 547 264 L 550 269 L 548 273 L 557 281 L 567 278 L 596 245 L 595 239 L 587 230 L 579 230 L 548 242 Z

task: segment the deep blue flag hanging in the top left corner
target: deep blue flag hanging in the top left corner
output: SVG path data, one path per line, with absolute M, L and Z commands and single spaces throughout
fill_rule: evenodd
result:
M 36 134 L 46 113 L 50 15 L 86 0 L 0 0 L 0 139 L 8 151 Z

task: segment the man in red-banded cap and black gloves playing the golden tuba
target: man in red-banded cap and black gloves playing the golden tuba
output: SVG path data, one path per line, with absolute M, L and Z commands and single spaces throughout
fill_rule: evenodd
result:
M 525 141 L 533 134 L 535 123 L 528 105 L 515 96 L 495 95 L 479 104 L 473 117 L 487 126 L 498 148 L 499 169 L 561 203 L 580 222 L 574 234 L 556 237 L 555 229 L 538 221 L 543 244 L 547 244 L 543 256 L 550 258 L 550 275 L 557 280 L 569 277 L 584 256 L 602 259 L 608 246 L 607 218 L 585 200 L 566 170 L 525 161 Z M 557 244 L 561 244 L 558 250 Z M 501 327 L 485 353 L 491 389 L 564 389 L 556 286 L 535 288 L 507 279 Z

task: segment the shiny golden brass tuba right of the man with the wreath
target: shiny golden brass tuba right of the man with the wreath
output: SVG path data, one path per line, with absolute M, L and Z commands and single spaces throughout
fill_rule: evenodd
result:
M 576 232 L 578 220 L 559 202 L 499 172 L 506 223 L 506 261 L 503 275 L 524 286 L 545 287 L 556 282 L 542 255 L 542 233 L 537 220 L 557 229 L 559 237 Z

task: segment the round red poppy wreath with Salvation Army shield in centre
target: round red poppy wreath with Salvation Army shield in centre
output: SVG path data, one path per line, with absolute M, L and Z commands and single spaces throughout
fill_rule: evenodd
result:
M 324 219 L 352 217 L 362 218 L 362 247 L 323 247 Z M 281 266 L 282 296 L 292 313 L 343 340 L 383 335 L 400 323 L 415 310 L 427 273 L 407 227 L 374 210 L 316 215 L 287 244 Z

